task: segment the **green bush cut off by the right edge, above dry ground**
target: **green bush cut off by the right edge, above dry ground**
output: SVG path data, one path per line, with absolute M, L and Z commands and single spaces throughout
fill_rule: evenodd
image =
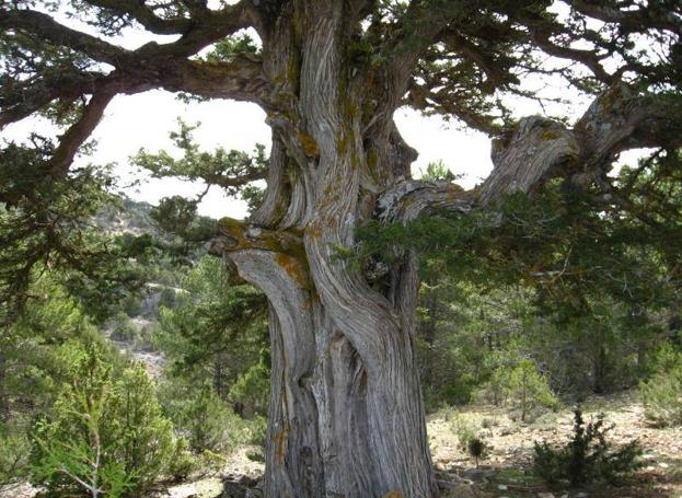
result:
M 682 425 L 682 354 L 672 347 L 659 351 L 655 373 L 640 384 L 645 415 L 663 426 Z

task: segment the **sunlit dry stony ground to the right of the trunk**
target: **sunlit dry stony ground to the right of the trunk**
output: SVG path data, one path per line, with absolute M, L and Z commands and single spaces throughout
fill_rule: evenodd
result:
M 446 479 L 456 476 L 469 480 L 469 490 L 463 488 L 459 495 L 450 495 L 458 498 L 682 498 L 682 428 L 650 426 L 636 392 L 591 397 L 583 403 L 582 410 L 586 421 L 603 413 L 606 425 L 614 425 L 608 438 L 613 448 L 634 439 L 639 441 L 644 466 L 631 482 L 621 487 L 550 490 L 532 476 L 534 441 L 565 444 L 573 429 L 570 407 L 545 414 L 532 424 L 515 421 L 506 410 L 490 406 L 441 410 L 428 421 L 434 464 Z M 479 468 L 458 448 L 458 419 L 473 427 L 490 448 Z

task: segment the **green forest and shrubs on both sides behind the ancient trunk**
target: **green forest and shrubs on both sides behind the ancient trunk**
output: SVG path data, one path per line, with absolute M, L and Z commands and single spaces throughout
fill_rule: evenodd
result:
M 338 257 L 424 254 L 415 340 L 427 410 L 494 405 L 528 424 L 635 389 L 651 424 L 681 425 L 679 162 L 661 153 L 624 167 L 627 210 L 596 210 L 599 198 L 555 183 L 532 200 L 509 197 L 501 221 L 363 227 L 357 250 Z M 453 179 L 442 164 L 424 177 Z M 262 459 L 265 297 L 208 253 L 216 221 L 196 204 L 151 207 L 112 195 L 107 182 L 88 199 L 62 197 L 50 216 L 72 246 L 31 270 L 22 302 L 3 302 L 0 483 L 147 496 L 220 471 L 244 445 Z M 1 216 L 3 228 L 22 222 Z M 3 245 L 0 270 L 15 270 L 39 236 Z M 79 253 L 100 263 L 65 269 L 60 258 Z M 451 428 L 473 431 L 456 417 Z M 469 451 L 478 459 L 483 447 Z

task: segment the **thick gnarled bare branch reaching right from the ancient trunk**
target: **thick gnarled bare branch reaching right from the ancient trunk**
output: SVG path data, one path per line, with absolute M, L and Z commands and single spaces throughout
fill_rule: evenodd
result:
M 380 196 L 378 218 L 406 222 L 428 210 L 461 213 L 492 207 L 515 192 L 532 194 L 552 177 L 578 186 L 599 182 L 627 149 L 682 146 L 682 102 L 667 94 L 640 94 L 615 85 L 599 95 L 573 129 L 532 116 L 497 137 L 495 169 L 485 182 L 464 192 L 453 184 L 408 181 Z

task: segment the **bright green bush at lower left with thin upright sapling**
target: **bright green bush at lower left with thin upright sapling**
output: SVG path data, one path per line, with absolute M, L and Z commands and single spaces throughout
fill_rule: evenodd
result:
M 173 452 L 154 385 L 141 366 L 115 371 L 101 346 L 62 349 L 70 368 L 50 416 L 35 425 L 32 480 L 54 494 L 139 496 Z

